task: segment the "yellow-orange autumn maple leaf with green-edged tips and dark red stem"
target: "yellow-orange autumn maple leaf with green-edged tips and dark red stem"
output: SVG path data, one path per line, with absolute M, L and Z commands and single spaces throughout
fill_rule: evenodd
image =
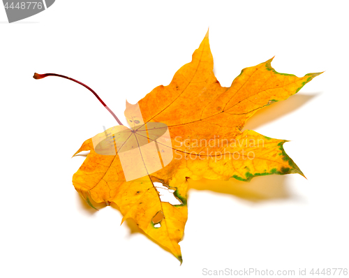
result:
M 241 131 L 246 120 L 257 110 L 296 94 L 320 74 L 309 73 L 298 78 L 277 73 L 271 62 L 269 59 L 244 68 L 231 87 L 221 87 L 214 76 L 207 32 L 193 53 L 192 61 L 175 73 L 170 85 L 156 87 L 138 102 L 138 117 L 134 105 L 127 105 L 125 115 L 132 129 L 114 126 L 82 144 L 75 155 L 90 152 L 73 175 L 75 189 L 90 205 L 91 200 L 116 203 L 124 216 L 122 221 L 133 219 L 144 233 L 181 261 L 179 242 L 188 215 L 188 179 L 229 180 L 233 177 L 249 181 L 261 175 L 303 175 L 283 149 L 286 140 L 268 138 L 255 131 Z M 34 78 L 48 75 L 53 74 L 36 74 Z M 158 142 L 159 136 L 151 135 L 165 131 L 170 133 L 170 144 Z M 101 139 L 98 147 L 96 138 Z M 103 138 L 112 140 L 103 141 Z M 140 140 L 146 141 L 140 144 Z M 102 141 L 106 145 L 103 146 Z M 141 150 L 141 145 L 151 142 L 156 142 L 158 152 L 154 157 L 158 156 L 159 161 L 163 153 L 173 156 L 170 163 L 161 161 L 162 167 L 156 171 L 149 170 Z M 119 148 L 114 148 L 117 144 Z M 110 146 L 114 149 L 113 154 L 108 152 Z M 139 149 L 147 169 L 147 173 L 139 174 L 139 177 L 137 159 L 131 164 L 128 161 L 128 166 L 122 161 L 128 157 L 125 151 L 134 147 Z M 121 152 L 124 152 L 122 157 Z M 137 178 L 126 179 L 126 172 Z M 172 189 L 180 204 L 161 201 L 154 182 Z

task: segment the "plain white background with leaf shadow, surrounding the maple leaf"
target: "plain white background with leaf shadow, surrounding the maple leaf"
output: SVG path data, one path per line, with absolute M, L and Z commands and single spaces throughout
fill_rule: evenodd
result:
M 57 0 L 13 24 L 0 8 L 0 276 L 349 268 L 346 3 Z M 275 175 L 249 184 L 192 184 L 179 266 L 134 227 L 120 226 L 119 211 L 94 212 L 73 188 L 84 158 L 70 157 L 103 125 L 116 125 L 112 116 L 80 85 L 32 76 L 60 73 L 85 82 L 124 121 L 126 98 L 135 103 L 168 85 L 208 27 L 222 86 L 274 55 L 281 73 L 325 73 L 246 125 L 291 140 L 285 151 L 308 180 Z

